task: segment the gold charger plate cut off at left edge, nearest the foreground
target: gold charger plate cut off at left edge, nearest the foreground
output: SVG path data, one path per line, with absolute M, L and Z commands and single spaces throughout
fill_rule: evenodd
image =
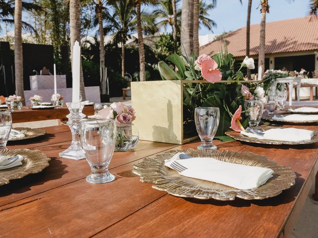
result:
M 44 168 L 49 166 L 49 161 L 51 160 L 39 150 L 0 150 L 0 155 L 3 156 L 12 157 L 17 154 L 24 157 L 22 165 L 6 170 L 0 170 L 0 186 L 9 183 L 12 179 L 20 179 L 29 174 L 41 172 Z

